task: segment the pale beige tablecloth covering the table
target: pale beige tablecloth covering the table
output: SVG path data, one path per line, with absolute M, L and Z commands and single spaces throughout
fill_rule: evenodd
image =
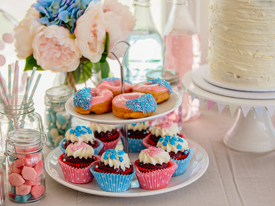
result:
M 147 197 L 103 197 L 70 189 L 46 174 L 46 197 L 35 205 L 274 205 L 275 152 L 241 153 L 223 144 L 236 113 L 231 117 L 225 108 L 219 114 L 217 106 L 208 111 L 205 103 L 198 119 L 183 124 L 187 140 L 200 144 L 210 161 L 204 175 L 188 186 Z M 275 115 L 272 121 L 275 123 Z M 50 151 L 44 146 L 45 158 Z M 5 193 L 6 206 L 19 205 Z

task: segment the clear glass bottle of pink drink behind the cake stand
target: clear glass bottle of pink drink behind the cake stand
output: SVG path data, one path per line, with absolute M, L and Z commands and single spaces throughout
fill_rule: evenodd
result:
M 201 45 L 188 8 L 188 0 L 170 0 L 172 8 L 163 30 L 163 67 L 179 72 L 180 82 L 184 74 L 200 65 Z M 200 116 L 199 102 L 183 93 L 183 121 Z

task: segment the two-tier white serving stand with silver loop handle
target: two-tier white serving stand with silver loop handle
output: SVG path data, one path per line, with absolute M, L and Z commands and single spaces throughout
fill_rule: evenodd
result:
M 119 42 L 125 42 L 128 45 L 127 51 L 130 47 L 129 43 L 126 41 L 119 41 Z M 119 43 L 116 42 L 113 46 Z M 111 49 L 111 52 L 112 52 Z M 116 56 L 117 60 L 119 61 L 120 64 L 120 74 L 121 74 L 121 84 L 122 88 L 124 85 L 124 74 L 123 74 L 123 62 L 126 56 L 126 53 L 123 57 L 122 63 L 120 63 L 119 59 Z M 122 89 L 122 93 L 124 93 L 125 90 Z M 177 91 L 173 91 L 171 93 L 171 96 L 168 100 L 166 100 L 163 103 L 159 103 L 157 105 L 156 111 L 153 112 L 149 117 L 145 118 L 140 118 L 140 119 L 123 119 L 120 117 L 116 117 L 112 112 L 107 112 L 104 114 L 88 114 L 88 115 L 83 115 L 79 114 L 76 112 L 73 106 L 73 97 L 71 97 L 66 105 L 65 108 L 68 111 L 69 114 L 72 116 L 86 120 L 89 122 L 95 122 L 95 123 L 101 123 L 101 124 L 110 124 L 110 125 L 123 125 L 123 129 L 127 129 L 128 124 L 135 124 L 139 122 L 144 122 L 144 121 L 149 121 L 158 117 L 162 117 L 165 114 L 169 114 L 170 112 L 174 111 L 177 109 L 182 103 L 182 96 L 180 93 Z M 127 132 L 124 132 L 126 136 L 124 139 L 127 140 Z M 64 179 L 62 170 L 58 164 L 57 158 L 61 155 L 61 150 L 60 148 L 55 148 L 47 157 L 46 163 L 45 163 L 45 168 L 47 173 L 52 177 L 54 180 L 59 182 L 60 184 L 67 186 L 69 188 L 72 188 L 74 190 L 78 190 L 81 192 L 85 193 L 90 193 L 90 194 L 95 194 L 95 195 L 101 195 L 101 196 L 108 196 L 108 197 L 141 197 L 141 196 L 150 196 L 154 194 L 161 194 L 161 193 L 166 193 L 170 192 L 173 190 L 177 190 L 179 188 L 182 188 L 184 186 L 187 186 L 197 179 L 199 179 L 204 172 L 207 170 L 208 164 L 209 164 L 209 157 L 206 153 L 206 151 L 197 143 L 188 140 L 188 146 L 191 147 L 194 150 L 194 154 L 189 162 L 189 165 L 186 169 L 186 172 L 182 175 L 179 175 L 177 177 L 172 177 L 171 180 L 169 181 L 168 185 L 160 190 L 144 190 L 139 186 L 138 179 L 136 176 L 134 176 L 134 179 L 132 180 L 130 184 L 130 188 L 124 192 L 121 193 L 113 193 L 113 192 L 106 192 L 104 190 L 101 190 L 100 186 L 98 185 L 97 181 L 94 179 L 90 183 L 85 183 L 85 184 L 74 184 L 74 183 L 69 183 Z M 122 149 L 122 148 L 119 148 Z M 128 145 L 127 141 L 124 141 L 124 150 L 126 152 L 128 151 Z M 127 152 L 128 153 L 128 152 Z M 128 153 L 129 158 L 131 162 L 134 162 L 135 160 L 138 159 L 138 153 Z

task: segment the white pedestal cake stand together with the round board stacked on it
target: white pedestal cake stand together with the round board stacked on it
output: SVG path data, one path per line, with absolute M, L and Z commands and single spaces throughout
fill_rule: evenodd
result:
M 206 64 L 195 71 L 187 72 L 182 79 L 182 85 L 187 94 L 193 92 L 197 97 L 224 103 L 226 107 L 239 106 L 237 119 L 223 139 L 225 145 L 240 152 L 261 153 L 275 150 L 275 131 L 266 108 L 275 105 L 275 92 L 237 91 L 210 84 L 203 77 L 207 74 L 208 67 Z M 241 106 L 251 107 L 246 117 L 242 114 Z M 254 107 L 263 107 L 260 117 Z

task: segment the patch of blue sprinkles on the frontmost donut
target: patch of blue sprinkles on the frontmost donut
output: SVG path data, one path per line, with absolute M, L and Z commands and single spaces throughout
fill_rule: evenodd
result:
M 141 95 L 139 98 L 127 99 L 125 106 L 129 107 L 132 111 L 140 111 L 143 114 L 154 112 L 157 107 L 156 100 L 151 94 Z

